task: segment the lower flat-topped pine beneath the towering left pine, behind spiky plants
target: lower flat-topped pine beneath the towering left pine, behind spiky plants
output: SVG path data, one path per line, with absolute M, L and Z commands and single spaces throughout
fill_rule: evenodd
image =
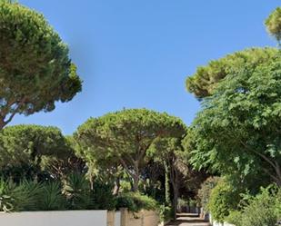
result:
M 7 173 L 5 176 L 14 177 L 14 169 L 18 168 L 20 178 L 33 178 L 45 168 L 52 168 L 48 158 L 67 159 L 73 156 L 73 151 L 55 127 L 15 125 L 0 133 L 0 156 L 0 168 Z

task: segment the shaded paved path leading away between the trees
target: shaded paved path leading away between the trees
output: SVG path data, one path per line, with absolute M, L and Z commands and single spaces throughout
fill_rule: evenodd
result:
M 168 223 L 167 226 L 209 226 L 210 224 L 198 217 L 194 213 L 180 213 L 175 222 Z

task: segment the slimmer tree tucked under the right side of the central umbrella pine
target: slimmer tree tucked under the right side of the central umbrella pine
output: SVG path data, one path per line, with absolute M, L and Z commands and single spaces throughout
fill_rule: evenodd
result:
M 183 136 L 185 134 L 186 131 Z M 206 179 L 205 172 L 192 170 L 190 163 L 186 161 L 188 153 L 185 152 L 182 142 L 183 140 L 180 138 L 159 138 L 149 150 L 154 161 L 163 164 L 172 185 L 173 193 L 169 199 L 172 200 L 174 219 L 176 219 L 177 202 L 180 195 L 193 198 L 201 182 Z

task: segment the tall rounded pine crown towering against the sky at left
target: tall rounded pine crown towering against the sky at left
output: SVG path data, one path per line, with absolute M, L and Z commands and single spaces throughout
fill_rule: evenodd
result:
M 16 113 L 55 109 L 81 91 L 68 48 L 43 15 L 0 1 L 0 130 Z

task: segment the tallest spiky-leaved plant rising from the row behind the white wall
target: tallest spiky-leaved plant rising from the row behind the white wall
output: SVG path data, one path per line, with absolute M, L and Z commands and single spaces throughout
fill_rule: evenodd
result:
M 92 204 L 90 183 L 84 174 L 70 174 L 65 180 L 63 192 L 71 210 L 85 210 Z

